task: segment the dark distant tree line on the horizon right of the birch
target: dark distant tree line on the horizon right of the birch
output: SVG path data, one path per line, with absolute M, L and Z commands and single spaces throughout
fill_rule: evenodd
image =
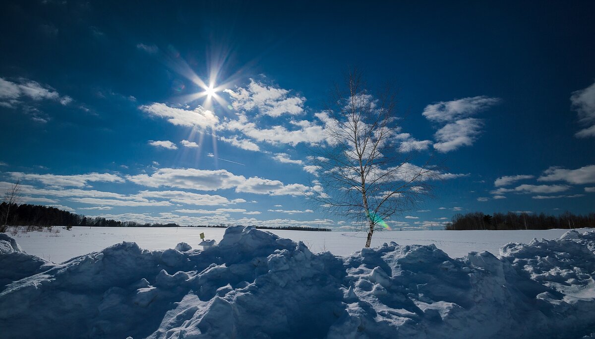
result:
M 553 229 L 553 228 L 585 228 L 595 227 L 595 213 L 577 215 L 564 212 L 558 216 L 529 213 L 494 213 L 483 214 L 473 212 L 467 214 L 455 214 L 452 222 L 444 229 L 462 231 L 468 229 Z

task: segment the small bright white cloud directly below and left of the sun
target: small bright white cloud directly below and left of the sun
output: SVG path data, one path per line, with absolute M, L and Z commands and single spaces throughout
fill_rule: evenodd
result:
M 177 126 L 206 128 L 216 125 L 219 121 L 212 111 L 206 110 L 202 106 L 189 110 L 154 102 L 151 105 L 140 105 L 139 110 L 145 111 L 152 116 L 165 118 L 168 122 Z

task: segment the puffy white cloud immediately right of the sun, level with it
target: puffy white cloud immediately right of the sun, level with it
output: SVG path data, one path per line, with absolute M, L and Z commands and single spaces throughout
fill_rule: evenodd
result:
M 224 89 L 231 97 L 231 106 L 239 111 L 257 111 L 258 114 L 278 117 L 283 114 L 303 113 L 303 97 L 290 96 L 287 89 L 263 85 L 253 79 L 246 88 L 236 91 Z

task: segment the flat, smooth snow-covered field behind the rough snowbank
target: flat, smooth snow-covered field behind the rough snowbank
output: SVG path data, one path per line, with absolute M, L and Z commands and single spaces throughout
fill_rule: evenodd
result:
M 147 250 L 166 250 L 178 242 L 187 242 L 196 247 L 201 242 L 199 234 L 217 242 L 223 239 L 224 228 L 107 228 L 73 227 L 71 231 L 62 228 L 60 233 L 27 232 L 14 235 L 18 244 L 29 254 L 35 254 L 52 262 L 64 262 L 76 256 L 101 251 L 122 241 L 136 242 Z M 466 256 L 470 251 L 489 251 L 497 255 L 500 247 L 508 242 L 528 243 L 533 238 L 559 238 L 568 230 L 547 231 L 385 231 L 376 232 L 372 247 L 383 242 L 394 241 L 399 245 L 430 245 L 446 252 L 450 257 Z M 365 245 L 364 232 L 308 232 L 271 231 L 281 238 L 295 242 L 303 241 L 314 253 L 331 251 L 337 256 L 347 256 L 359 251 Z

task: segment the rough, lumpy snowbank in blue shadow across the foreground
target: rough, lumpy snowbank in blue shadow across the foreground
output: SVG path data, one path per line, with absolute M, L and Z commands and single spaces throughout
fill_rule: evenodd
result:
M 5 236 L 0 328 L 7 338 L 590 337 L 594 245 L 595 232 L 568 232 L 508 244 L 500 259 L 394 242 L 338 257 L 230 227 L 202 250 L 123 242 L 57 265 Z

